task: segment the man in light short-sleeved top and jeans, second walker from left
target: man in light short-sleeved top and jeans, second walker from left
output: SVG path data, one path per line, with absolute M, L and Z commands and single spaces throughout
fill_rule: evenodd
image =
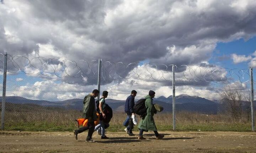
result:
M 105 123 L 103 121 L 103 119 L 106 119 L 106 114 L 104 113 L 104 109 L 106 107 L 105 99 L 107 98 L 107 96 L 108 96 L 108 92 L 107 91 L 103 91 L 102 92 L 102 98 L 100 98 L 99 103 L 96 104 L 96 105 L 98 105 L 98 110 L 100 111 L 100 113 L 102 115 L 102 119 L 100 119 L 100 124 L 97 125 L 97 127 L 100 126 L 100 128 L 101 128 L 101 139 L 108 139 L 108 137 L 105 136 L 105 127 L 108 127 L 109 124 Z M 97 130 L 97 129 L 95 129 L 95 130 Z M 100 131 L 100 130 L 98 130 L 98 131 Z

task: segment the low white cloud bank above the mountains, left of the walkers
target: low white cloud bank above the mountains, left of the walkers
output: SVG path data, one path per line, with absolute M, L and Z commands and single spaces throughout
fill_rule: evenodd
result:
M 20 96 L 28 99 L 61 101 L 74 98 L 84 98 L 94 86 L 80 86 L 65 82 L 57 83 L 52 80 L 36 81 L 33 84 L 9 89 L 7 96 Z

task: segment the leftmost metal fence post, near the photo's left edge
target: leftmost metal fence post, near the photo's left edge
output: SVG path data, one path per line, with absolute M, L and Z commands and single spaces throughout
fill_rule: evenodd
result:
M 5 55 L 4 55 L 4 75 L 3 75 L 3 91 L 2 91 L 1 130 L 4 130 L 5 93 L 6 93 L 6 70 L 7 70 L 7 53 L 5 53 Z

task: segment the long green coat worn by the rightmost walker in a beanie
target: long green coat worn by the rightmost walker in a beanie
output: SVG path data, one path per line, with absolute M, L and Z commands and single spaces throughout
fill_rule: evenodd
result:
M 139 122 L 138 128 L 139 129 L 144 129 L 144 130 L 152 130 L 152 131 L 157 131 L 156 126 L 155 126 L 155 121 L 154 121 L 154 114 L 156 113 L 155 107 L 152 102 L 152 98 L 150 95 L 147 95 L 145 101 L 145 106 L 147 109 L 147 114 L 144 118 L 142 118 Z

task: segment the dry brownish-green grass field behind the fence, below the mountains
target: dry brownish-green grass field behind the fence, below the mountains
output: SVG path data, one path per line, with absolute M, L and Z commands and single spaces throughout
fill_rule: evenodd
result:
M 5 130 L 19 131 L 73 131 L 78 128 L 75 119 L 81 112 L 61 111 L 6 111 Z M 114 113 L 107 131 L 123 131 L 124 113 Z M 138 118 L 139 119 L 139 118 Z M 159 131 L 172 130 L 172 114 L 159 113 L 154 116 Z M 136 129 L 137 126 L 134 126 Z M 178 131 L 251 131 L 251 121 L 246 114 L 240 121 L 234 121 L 227 114 L 205 115 L 191 112 L 176 114 Z

